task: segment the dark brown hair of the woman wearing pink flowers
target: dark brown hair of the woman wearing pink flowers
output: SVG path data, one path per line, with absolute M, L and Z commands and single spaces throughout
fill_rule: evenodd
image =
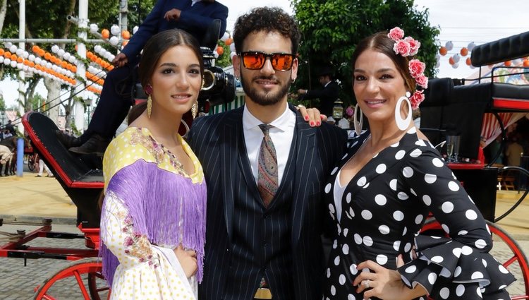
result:
M 358 45 L 356 45 L 355 52 L 353 52 L 353 58 L 351 59 L 353 69 L 355 68 L 358 56 L 360 56 L 360 54 L 365 52 L 367 49 L 373 49 L 377 52 L 385 54 L 389 57 L 389 59 L 391 59 L 391 61 L 394 62 L 397 70 L 399 73 L 401 73 L 402 78 L 404 78 L 404 84 L 406 85 L 406 88 L 413 94 L 413 92 L 415 92 L 415 80 L 413 77 L 411 77 L 410 70 L 408 68 L 408 62 L 410 59 L 413 59 L 413 57 L 404 57 L 400 54 L 395 54 L 395 51 L 393 50 L 394 44 L 395 41 L 391 40 L 391 38 L 387 36 L 387 32 L 384 31 L 377 32 L 374 35 L 370 35 L 369 37 L 365 37 L 358 43 Z M 355 78 L 353 76 L 353 83 L 354 80 Z

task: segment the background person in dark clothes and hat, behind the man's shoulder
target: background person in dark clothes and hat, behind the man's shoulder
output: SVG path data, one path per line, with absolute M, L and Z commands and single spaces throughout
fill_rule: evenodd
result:
M 338 100 L 340 87 L 336 81 L 332 80 L 332 68 L 329 66 L 322 68 L 322 71 L 318 73 L 318 81 L 322 85 L 321 90 L 305 90 L 299 89 L 298 95 L 302 97 L 303 100 L 310 99 L 320 99 L 320 112 L 327 116 L 332 116 L 332 108 L 334 107 L 334 102 Z

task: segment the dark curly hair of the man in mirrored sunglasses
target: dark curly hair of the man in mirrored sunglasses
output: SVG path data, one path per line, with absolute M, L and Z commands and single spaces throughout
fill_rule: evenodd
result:
M 257 7 L 237 18 L 233 30 L 235 51 L 243 51 L 243 41 L 253 32 L 279 32 L 292 42 L 292 54 L 298 53 L 300 31 L 296 20 L 279 7 Z

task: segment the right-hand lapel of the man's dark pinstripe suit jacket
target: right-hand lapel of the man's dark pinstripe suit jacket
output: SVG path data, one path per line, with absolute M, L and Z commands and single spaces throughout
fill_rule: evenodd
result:
M 296 112 L 296 109 L 291 107 Z M 292 224 L 292 246 L 296 246 L 305 219 L 305 211 L 308 205 L 308 194 L 310 193 L 307 185 L 310 182 L 310 169 L 313 160 L 317 157 L 315 151 L 316 129 L 308 125 L 303 117 L 296 112 L 296 174 L 293 178 L 293 199 L 291 210 Z

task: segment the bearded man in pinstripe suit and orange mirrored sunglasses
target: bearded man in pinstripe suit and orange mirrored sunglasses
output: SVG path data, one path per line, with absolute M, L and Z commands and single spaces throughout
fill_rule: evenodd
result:
M 320 194 L 346 133 L 327 124 L 310 127 L 286 102 L 297 76 L 300 38 L 291 16 L 279 8 L 255 8 L 238 18 L 233 37 L 245 107 L 201 117 L 189 135 L 208 187 L 199 298 L 319 300 L 327 210 Z M 278 187 L 271 202 L 257 187 L 262 124 L 272 126 L 276 151 Z

